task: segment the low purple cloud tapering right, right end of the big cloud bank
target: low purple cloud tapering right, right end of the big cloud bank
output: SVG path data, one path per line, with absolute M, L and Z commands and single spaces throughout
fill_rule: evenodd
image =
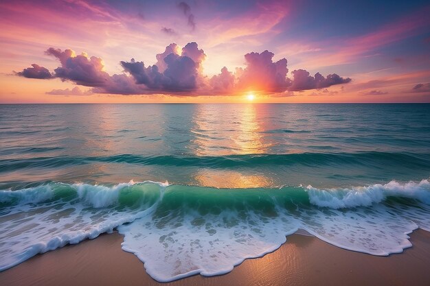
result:
M 305 91 L 308 89 L 320 89 L 333 86 L 335 84 L 347 84 L 351 81 L 350 78 L 341 78 L 336 73 L 327 75 L 324 78 L 321 73 L 315 73 L 311 76 L 308 71 L 304 69 L 297 69 L 291 72 L 293 74 L 293 81 L 291 86 L 288 87 L 289 91 Z

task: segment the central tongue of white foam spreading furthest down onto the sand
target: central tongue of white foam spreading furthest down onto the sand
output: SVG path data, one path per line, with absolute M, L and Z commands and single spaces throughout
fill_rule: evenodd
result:
M 278 249 L 298 227 L 293 217 L 267 219 L 252 212 L 223 211 L 204 217 L 199 213 L 146 216 L 118 230 L 124 235 L 122 248 L 139 257 L 152 278 L 169 282 L 230 272 L 245 259 Z

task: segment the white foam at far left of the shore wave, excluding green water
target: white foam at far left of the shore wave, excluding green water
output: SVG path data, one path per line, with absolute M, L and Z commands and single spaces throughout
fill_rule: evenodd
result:
M 109 206 L 118 199 L 120 189 L 130 187 L 134 182 L 118 184 L 113 187 L 92 186 L 89 184 L 67 185 L 78 193 L 78 198 L 70 201 L 55 201 L 34 204 L 38 200 L 34 194 L 45 198 L 45 186 L 17 191 L 21 204 L 1 209 L 0 213 L 0 271 L 19 264 L 38 253 L 47 252 L 79 243 L 84 239 L 93 239 L 101 233 L 111 233 L 114 228 L 133 222 L 154 211 L 158 200 L 152 206 L 144 208 L 125 208 L 119 211 Z M 140 184 L 147 184 L 142 182 Z M 153 184 L 153 182 L 150 182 Z M 166 184 L 159 183 L 160 195 Z M 1 191 L 1 197 L 9 192 Z M 33 204 L 28 204 L 32 202 Z M 43 203 L 44 202 L 44 203 Z M 89 208 L 93 206 L 93 208 Z

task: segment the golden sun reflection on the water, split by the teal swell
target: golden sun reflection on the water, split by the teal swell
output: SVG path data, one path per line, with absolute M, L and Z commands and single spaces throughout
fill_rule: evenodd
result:
M 241 108 L 227 105 L 201 105 L 193 117 L 194 134 L 189 149 L 196 156 L 230 156 L 266 154 L 269 143 L 264 142 L 257 116 L 258 105 Z M 209 160 L 209 158 L 208 158 Z M 249 173 L 245 169 L 199 169 L 196 184 L 217 188 L 270 187 L 267 176 Z

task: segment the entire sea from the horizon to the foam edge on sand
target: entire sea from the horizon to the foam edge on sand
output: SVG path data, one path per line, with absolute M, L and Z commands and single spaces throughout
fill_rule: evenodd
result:
M 118 230 L 167 282 L 430 231 L 430 104 L 0 105 L 0 271 Z

